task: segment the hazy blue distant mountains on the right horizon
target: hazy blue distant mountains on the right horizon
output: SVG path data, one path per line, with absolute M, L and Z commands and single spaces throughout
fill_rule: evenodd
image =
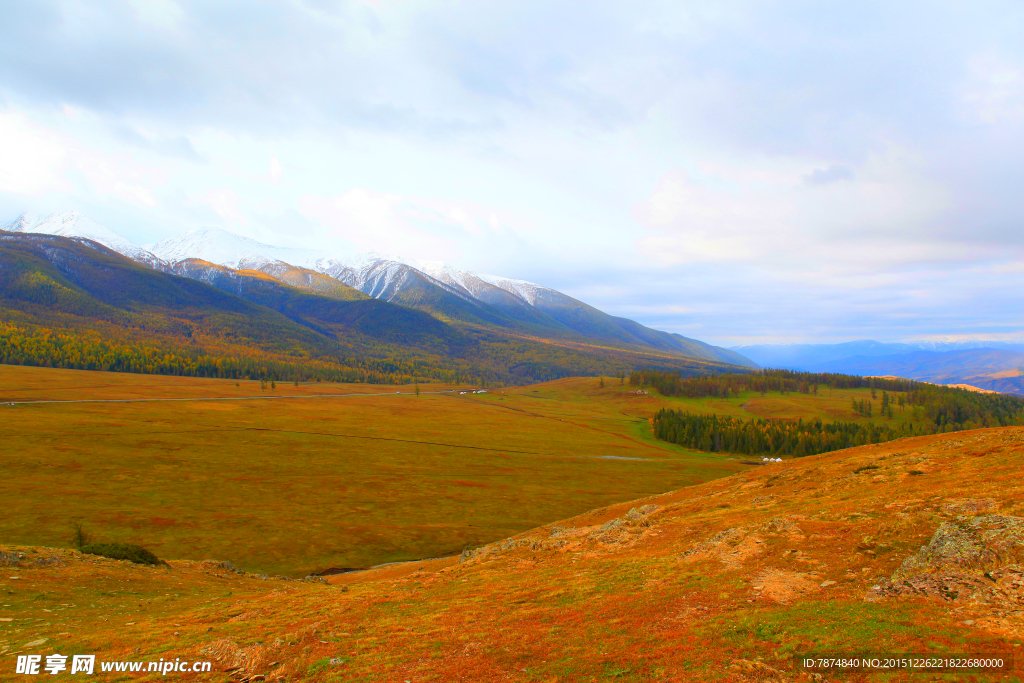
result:
M 1024 394 L 1024 344 L 998 341 L 778 344 L 734 347 L 766 368 L 896 375 Z

